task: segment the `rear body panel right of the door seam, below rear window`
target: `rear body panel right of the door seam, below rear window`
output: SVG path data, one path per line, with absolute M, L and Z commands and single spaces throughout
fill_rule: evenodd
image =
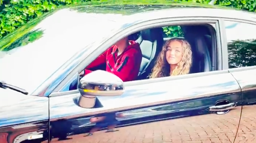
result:
M 254 143 L 255 142 L 255 109 L 256 109 L 256 76 L 255 67 L 245 67 L 231 69 L 230 72 L 235 77 L 242 90 L 243 112 L 237 138 L 235 143 Z

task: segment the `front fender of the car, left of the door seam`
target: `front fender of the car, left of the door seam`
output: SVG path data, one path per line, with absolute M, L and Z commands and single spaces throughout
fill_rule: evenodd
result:
M 0 143 L 48 139 L 49 98 L 28 96 L 0 88 Z

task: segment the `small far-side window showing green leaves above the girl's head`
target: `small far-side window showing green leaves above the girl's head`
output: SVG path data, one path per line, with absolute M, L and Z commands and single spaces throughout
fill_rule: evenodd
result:
M 164 38 L 184 37 L 181 26 L 166 26 L 162 28 Z

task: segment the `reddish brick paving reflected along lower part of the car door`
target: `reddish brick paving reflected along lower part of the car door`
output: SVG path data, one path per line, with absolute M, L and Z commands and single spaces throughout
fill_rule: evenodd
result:
M 237 107 L 224 115 L 208 114 L 133 125 L 121 127 L 118 132 L 105 133 L 104 130 L 92 136 L 70 136 L 72 139 L 65 141 L 53 139 L 51 143 L 233 143 L 240 111 L 241 107 Z M 244 127 L 241 130 L 245 132 Z M 239 136 L 250 138 L 241 133 Z

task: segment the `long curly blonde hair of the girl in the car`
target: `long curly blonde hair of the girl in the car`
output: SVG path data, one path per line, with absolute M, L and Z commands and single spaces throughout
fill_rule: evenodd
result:
M 183 55 L 181 62 L 178 63 L 176 68 L 171 72 L 171 76 L 188 74 L 192 64 L 192 51 L 191 46 L 187 40 L 183 38 L 171 38 L 166 41 L 162 51 L 159 53 L 152 73 L 149 78 L 167 77 L 170 76 L 170 64 L 166 60 L 166 51 L 169 44 L 173 41 L 181 42 L 183 47 Z

